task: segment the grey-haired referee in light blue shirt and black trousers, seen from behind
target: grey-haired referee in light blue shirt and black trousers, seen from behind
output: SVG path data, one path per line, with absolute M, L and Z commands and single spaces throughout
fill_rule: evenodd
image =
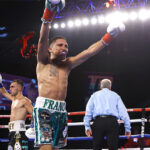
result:
M 130 118 L 121 97 L 111 91 L 111 81 L 103 79 L 100 90 L 90 97 L 84 116 L 85 134 L 93 135 L 93 149 L 102 149 L 104 137 L 107 137 L 109 150 L 118 149 L 119 125 L 117 120 L 124 121 L 125 135 L 131 135 Z M 91 128 L 90 121 L 94 120 Z

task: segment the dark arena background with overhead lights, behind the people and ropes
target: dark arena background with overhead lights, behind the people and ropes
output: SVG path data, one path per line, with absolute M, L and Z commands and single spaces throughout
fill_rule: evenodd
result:
M 0 0 L 0 73 L 5 88 L 13 79 L 25 83 L 24 95 L 35 104 L 37 91 L 36 50 L 45 0 Z M 108 5 L 107 5 L 108 4 Z M 108 6 L 108 7 L 106 7 Z M 55 16 L 50 38 L 63 35 L 69 44 L 68 56 L 74 56 L 106 33 L 109 21 L 115 18 L 125 24 L 110 45 L 96 56 L 78 66 L 69 76 L 67 111 L 85 111 L 90 95 L 99 90 L 99 81 L 111 79 L 126 107 L 143 108 L 143 112 L 129 112 L 130 119 L 146 118 L 144 133 L 150 134 L 150 0 L 66 0 L 66 7 Z M 120 15 L 121 14 L 121 15 Z M 11 101 L 0 95 L 0 115 L 10 115 Z M 7 125 L 9 118 L 0 118 Z M 83 115 L 69 116 L 69 122 L 83 122 Z M 30 124 L 30 118 L 26 121 Z M 132 124 L 132 134 L 141 134 L 142 123 Z M 0 150 L 7 149 L 8 129 L 0 128 Z M 124 134 L 120 125 L 120 135 Z M 83 126 L 70 126 L 69 137 L 85 137 Z M 4 139 L 4 140 L 2 140 Z M 129 147 L 150 147 L 150 138 L 134 139 Z M 120 139 L 119 147 L 127 145 Z M 30 142 L 33 148 L 33 141 Z M 104 148 L 107 144 L 104 142 Z M 37 148 L 38 149 L 38 148 Z M 68 141 L 64 149 L 92 149 L 91 140 Z M 150 148 L 149 148 L 150 149 Z

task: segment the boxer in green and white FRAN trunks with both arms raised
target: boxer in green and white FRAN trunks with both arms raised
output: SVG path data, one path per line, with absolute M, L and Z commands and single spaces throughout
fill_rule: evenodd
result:
M 66 145 L 65 99 L 70 71 L 99 53 L 121 30 L 124 30 L 123 24 L 111 25 L 101 40 L 76 56 L 67 58 L 68 43 L 64 37 L 54 37 L 49 44 L 50 23 L 55 14 L 64 7 L 64 0 L 46 0 L 41 19 L 36 67 L 39 97 L 33 111 L 35 142 L 40 146 L 40 150 L 57 150 Z

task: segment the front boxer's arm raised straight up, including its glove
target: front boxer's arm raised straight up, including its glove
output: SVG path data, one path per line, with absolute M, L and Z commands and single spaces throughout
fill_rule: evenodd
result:
M 42 16 L 42 25 L 40 30 L 40 38 L 38 42 L 37 61 L 47 63 L 48 48 L 49 48 L 49 31 L 50 23 L 52 22 L 55 13 L 63 9 L 65 6 L 64 0 L 46 0 L 45 10 Z

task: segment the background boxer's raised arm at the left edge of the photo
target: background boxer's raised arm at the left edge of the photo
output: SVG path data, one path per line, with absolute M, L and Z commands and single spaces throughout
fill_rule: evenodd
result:
M 11 96 L 11 95 L 6 91 L 6 89 L 4 88 L 3 83 L 2 83 L 2 76 L 1 76 L 1 74 L 0 74 L 0 93 L 1 93 L 3 96 L 5 96 L 6 98 L 10 99 L 10 100 L 13 100 L 13 99 L 14 99 L 14 97 Z

